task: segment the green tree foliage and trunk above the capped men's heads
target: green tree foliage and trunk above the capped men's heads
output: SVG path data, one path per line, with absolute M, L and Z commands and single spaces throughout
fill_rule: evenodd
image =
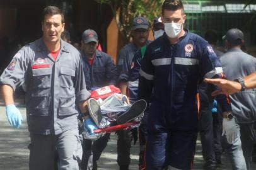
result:
M 120 33 L 129 42 L 131 24 L 136 16 L 144 16 L 149 22 L 161 14 L 163 0 L 95 0 L 100 4 L 108 4 Z

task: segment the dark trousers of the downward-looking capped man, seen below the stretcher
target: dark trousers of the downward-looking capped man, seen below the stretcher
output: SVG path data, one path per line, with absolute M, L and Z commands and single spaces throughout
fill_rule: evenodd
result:
M 82 170 L 96 170 L 97 161 L 100 159 L 103 150 L 107 146 L 110 139 L 110 133 L 106 133 L 98 140 L 91 141 L 84 139 L 83 141 L 83 157 L 80 164 Z

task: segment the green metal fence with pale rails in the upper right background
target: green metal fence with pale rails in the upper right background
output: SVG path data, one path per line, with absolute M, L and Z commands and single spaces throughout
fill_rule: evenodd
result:
M 256 45 L 256 4 L 245 8 L 244 2 L 183 1 L 187 15 L 185 27 L 202 37 L 207 30 L 215 30 L 219 40 L 230 28 L 238 28 L 245 35 L 245 45 Z

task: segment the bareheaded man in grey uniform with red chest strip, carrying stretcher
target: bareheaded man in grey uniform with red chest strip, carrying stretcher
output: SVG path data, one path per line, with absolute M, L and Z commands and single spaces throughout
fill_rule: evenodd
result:
M 88 113 L 86 99 L 90 93 L 78 50 L 61 40 L 64 25 L 61 10 L 47 6 L 42 13 L 43 37 L 21 48 L 0 77 L 6 115 L 16 128 L 22 116 L 13 91 L 26 85 L 29 169 L 54 169 L 56 150 L 58 169 L 79 169 L 78 113 Z M 92 123 L 90 118 L 86 122 Z

